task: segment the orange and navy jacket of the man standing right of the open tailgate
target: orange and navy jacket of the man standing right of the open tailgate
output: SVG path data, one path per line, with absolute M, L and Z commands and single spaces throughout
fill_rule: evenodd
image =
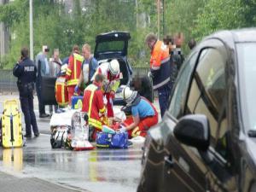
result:
M 153 89 L 158 90 L 168 84 L 171 75 L 169 48 L 161 42 L 156 41 L 151 51 L 150 72 L 153 75 Z

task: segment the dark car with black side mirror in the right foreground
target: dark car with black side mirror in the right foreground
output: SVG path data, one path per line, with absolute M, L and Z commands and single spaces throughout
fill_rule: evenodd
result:
M 192 50 L 143 147 L 137 191 L 256 191 L 256 29 Z

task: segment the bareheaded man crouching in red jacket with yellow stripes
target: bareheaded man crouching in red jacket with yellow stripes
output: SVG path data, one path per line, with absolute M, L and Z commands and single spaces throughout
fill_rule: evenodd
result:
M 95 140 L 96 131 L 102 131 L 101 116 L 106 113 L 106 108 L 103 102 L 102 82 L 104 76 L 96 74 L 92 84 L 88 85 L 84 90 L 84 100 L 82 112 L 88 114 L 88 123 L 90 125 L 89 141 Z M 92 137 L 92 138 L 91 138 Z

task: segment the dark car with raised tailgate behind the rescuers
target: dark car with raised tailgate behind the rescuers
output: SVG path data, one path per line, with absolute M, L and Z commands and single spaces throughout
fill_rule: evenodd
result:
M 127 60 L 128 42 L 131 39 L 129 32 L 107 32 L 96 36 L 96 47 L 94 57 L 101 65 L 102 62 L 117 59 L 120 66 L 120 85 L 128 85 L 132 87 L 135 83 L 132 79 L 132 69 L 129 61 Z M 136 79 L 137 82 L 142 82 L 136 90 L 142 90 L 142 95 L 146 96 L 150 101 L 153 100 L 152 84 L 147 76 Z M 143 84 L 143 85 L 142 85 Z M 146 86 L 145 86 L 146 84 Z M 148 85 L 148 86 L 147 86 Z M 148 91 L 143 91 L 143 86 L 147 87 Z M 120 86 L 115 95 L 113 104 L 124 105 L 125 102 L 121 96 L 123 86 Z

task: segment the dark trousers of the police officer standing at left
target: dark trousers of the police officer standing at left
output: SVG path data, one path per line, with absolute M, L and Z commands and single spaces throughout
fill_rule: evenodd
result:
M 26 135 L 32 135 L 31 126 L 34 134 L 38 134 L 38 124 L 34 113 L 33 95 L 20 96 L 20 106 L 24 114 L 26 124 Z

